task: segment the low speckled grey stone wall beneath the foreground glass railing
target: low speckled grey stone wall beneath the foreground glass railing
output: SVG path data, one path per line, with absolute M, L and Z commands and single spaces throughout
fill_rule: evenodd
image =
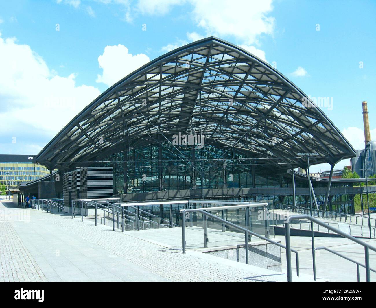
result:
M 246 263 L 246 249 L 244 245 L 213 247 L 200 251 L 220 258 Z M 279 246 L 266 241 L 249 243 L 248 254 L 250 265 L 281 272 L 281 252 Z

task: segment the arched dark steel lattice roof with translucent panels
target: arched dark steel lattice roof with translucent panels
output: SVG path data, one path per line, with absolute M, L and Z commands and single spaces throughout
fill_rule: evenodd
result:
M 215 37 L 185 45 L 124 77 L 83 109 L 37 155 L 69 169 L 127 147 L 202 134 L 206 144 L 250 158 L 274 157 L 277 168 L 355 156 L 341 132 L 285 76 L 246 50 Z M 313 103 L 312 103 L 313 104 Z

